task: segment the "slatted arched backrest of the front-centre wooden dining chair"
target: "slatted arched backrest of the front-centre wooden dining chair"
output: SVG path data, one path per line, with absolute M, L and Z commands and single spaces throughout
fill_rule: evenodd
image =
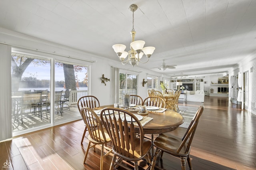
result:
M 134 158 L 135 154 L 142 155 L 144 132 L 140 121 L 135 115 L 121 108 L 108 107 L 101 111 L 100 118 L 108 130 L 115 152 L 129 158 Z M 134 123 L 139 128 L 140 137 L 136 137 Z M 140 140 L 140 153 L 135 152 L 136 138 Z

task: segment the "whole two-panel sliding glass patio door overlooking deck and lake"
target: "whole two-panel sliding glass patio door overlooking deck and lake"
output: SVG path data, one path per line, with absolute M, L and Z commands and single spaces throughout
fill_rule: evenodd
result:
M 11 61 L 14 134 L 81 119 L 77 101 L 89 95 L 88 65 L 52 63 L 54 58 L 17 51 L 12 52 Z

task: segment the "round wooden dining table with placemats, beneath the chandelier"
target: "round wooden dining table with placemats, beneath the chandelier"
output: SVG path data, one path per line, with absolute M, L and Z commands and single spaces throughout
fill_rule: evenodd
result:
M 114 107 L 114 105 L 104 105 L 100 107 L 95 107 L 94 110 L 101 110 L 105 107 Z M 144 134 L 151 134 L 151 141 L 154 141 L 154 134 L 160 134 L 165 132 L 170 132 L 178 128 L 182 123 L 184 123 L 184 118 L 179 113 L 172 111 L 170 109 L 156 109 L 156 110 L 148 110 L 145 115 L 140 115 L 143 117 L 141 121 L 144 119 L 150 118 L 150 121 L 146 122 L 143 126 Z M 134 114 L 138 114 L 138 109 L 128 108 L 128 111 Z M 141 122 L 142 123 L 142 122 Z M 139 133 L 139 128 L 136 129 L 137 133 Z M 152 147 L 152 154 L 154 148 Z

